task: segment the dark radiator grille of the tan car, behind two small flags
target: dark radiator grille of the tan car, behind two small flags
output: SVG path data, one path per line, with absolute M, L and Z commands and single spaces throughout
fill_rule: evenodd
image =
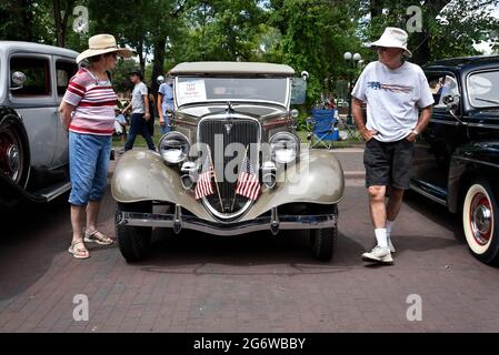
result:
M 226 125 L 230 125 L 230 131 Z M 259 142 L 260 139 L 260 125 L 253 120 L 244 119 L 206 119 L 199 124 L 199 142 L 206 143 L 210 148 L 213 156 L 213 166 L 217 174 L 218 190 L 213 186 L 214 194 L 207 196 L 207 202 L 212 209 L 219 212 L 219 217 L 230 219 L 247 205 L 248 199 L 241 195 L 237 195 L 236 187 L 237 181 L 231 182 L 226 179 L 221 173 L 224 172 L 226 165 L 233 160 L 233 156 L 223 156 L 224 154 L 219 154 L 216 152 L 216 138 L 222 140 L 223 152 L 226 146 L 230 143 L 240 143 L 243 146 L 249 146 L 251 143 Z M 219 149 L 220 151 L 220 149 Z M 242 161 L 243 156 L 237 158 L 239 162 Z M 237 165 L 238 168 L 240 164 Z M 237 169 L 237 168 L 236 168 Z M 234 172 L 239 174 L 239 172 Z M 221 175 L 221 176 L 219 176 Z M 220 204 L 220 197 L 222 204 Z

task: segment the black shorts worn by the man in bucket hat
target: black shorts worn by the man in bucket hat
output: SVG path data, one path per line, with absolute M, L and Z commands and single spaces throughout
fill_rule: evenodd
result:
M 387 143 L 370 139 L 363 151 L 366 187 L 409 189 L 413 156 L 415 143 L 407 139 Z

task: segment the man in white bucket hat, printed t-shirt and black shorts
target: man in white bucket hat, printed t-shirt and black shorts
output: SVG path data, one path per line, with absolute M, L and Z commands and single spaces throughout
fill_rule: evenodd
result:
M 415 140 L 432 112 L 433 98 L 423 71 L 403 59 L 412 57 L 407 39 L 406 31 L 386 28 L 381 38 L 370 44 L 377 49 L 378 61 L 366 67 L 352 91 L 353 119 L 366 141 L 366 187 L 377 241 L 371 252 L 362 254 L 369 262 L 393 262 L 391 227 L 403 191 L 409 189 Z M 367 121 L 362 101 L 367 103 Z M 385 203 L 387 189 L 389 199 Z

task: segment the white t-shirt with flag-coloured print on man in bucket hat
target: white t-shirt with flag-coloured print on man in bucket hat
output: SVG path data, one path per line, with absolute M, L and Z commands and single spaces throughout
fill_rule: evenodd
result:
M 399 141 L 418 123 L 418 108 L 433 103 L 422 69 L 403 62 L 395 70 L 379 61 L 369 63 L 357 80 L 352 97 L 367 102 L 366 128 L 380 142 Z

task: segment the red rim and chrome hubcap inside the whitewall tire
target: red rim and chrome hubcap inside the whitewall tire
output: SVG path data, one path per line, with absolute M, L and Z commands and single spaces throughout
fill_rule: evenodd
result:
M 481 193 L 477 194 L 471 202 L 470 223 L 477 243 L 486 245 L 492 232 L 492 209 L 487 196 Z

